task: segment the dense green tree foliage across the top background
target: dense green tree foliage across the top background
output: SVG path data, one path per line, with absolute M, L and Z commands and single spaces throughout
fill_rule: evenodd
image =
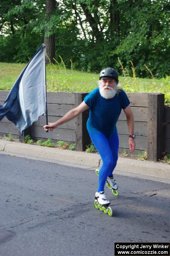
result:
M 48 1 L 47 1 L 48 2 Z M 56 0 L 50 17 L 45 0 L 1 0 L 0 61 L 26 61 L 43 38 L 55 35 L 55 58 L 77 70 L 132 75 L 169 74 L 169 0 Z M 10 51 L 9 51 L 10 48 Z M 9 52 L 9 53 L 8 53 Z

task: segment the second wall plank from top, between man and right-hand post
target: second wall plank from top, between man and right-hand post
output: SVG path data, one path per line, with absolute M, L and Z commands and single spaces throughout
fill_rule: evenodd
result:
M 131 107 L 131 111 L 134 115 L 134 121 L 147 122 L 147 108 Z M 123 110 L 121 111 L 119 120 L 122 120 L 122 121 L 126 120 L 126 115 Z

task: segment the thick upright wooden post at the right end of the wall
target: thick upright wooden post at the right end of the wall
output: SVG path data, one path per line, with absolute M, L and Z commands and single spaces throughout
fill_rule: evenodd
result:
M 164 94 L 148 94 L 148 147 L 147 159 L 157 161 L 163 152 Z

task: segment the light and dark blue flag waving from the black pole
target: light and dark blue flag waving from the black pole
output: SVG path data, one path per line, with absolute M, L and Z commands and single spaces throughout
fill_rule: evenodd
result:
M 45 45 L 42 44 L 18 76 L 6 98 L 0 105 L 0 120 L 6 116 L 21 133 L 45 115 Z

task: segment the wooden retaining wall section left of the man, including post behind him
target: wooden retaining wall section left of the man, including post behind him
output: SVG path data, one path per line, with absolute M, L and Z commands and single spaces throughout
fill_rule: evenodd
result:
M 8 93 L 9 91 L 0 91 L 0 105 L 4 104 Z M 63 117 L 68 111 L 77 107 L 86 95 L 87 93 L 82 92 L 47 92 L 48 122 L 51 123 Z M 84 111 L 74 120 L 48 133 L 43 129 L 43 126 L 46 124 L 46 117 L 40 116 L 38 121 L 34 122 L 31 127 L 24 131 L 23 136 L 21 136 L 17 128 L 4 117 L 0 121 L 0 134 L 8 135 L 11 133 L 14 136 L 19 136 L 20 142 L 23 142 L 24 136 L 28 134 L 35 140 L 51 139 L 54 140 L 54 142 L 62 140 L 69 142 L 69 144 L 76 144 L 77 151 L 84 151 L 86 145 L 91 143 L 86 129 L 88 114 L 88 110 Z

